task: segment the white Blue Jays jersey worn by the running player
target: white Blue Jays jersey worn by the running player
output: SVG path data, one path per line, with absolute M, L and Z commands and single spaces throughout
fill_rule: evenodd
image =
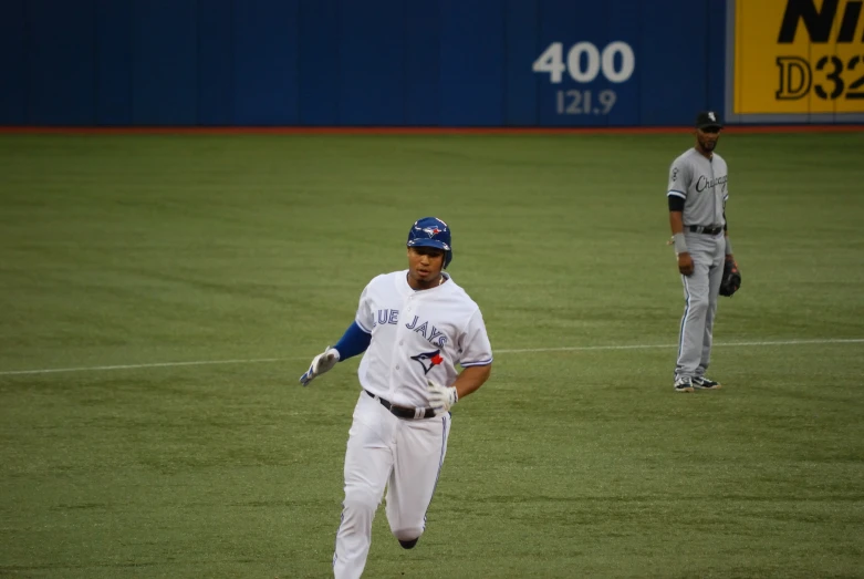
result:
M 393 404 L 428 406 L 427 380 L 445 386 L 462 368 L 492 362 L 480 308 L 452 278 L 414 290 L 408 270 L 374 278 L 355 321 L 372 333 L 357 374 L 361 385 Z

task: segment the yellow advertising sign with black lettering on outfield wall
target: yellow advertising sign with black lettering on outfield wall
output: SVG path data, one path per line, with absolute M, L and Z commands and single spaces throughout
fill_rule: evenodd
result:
M 732 113 L 864 113 L 862 4 L 735 1 Z

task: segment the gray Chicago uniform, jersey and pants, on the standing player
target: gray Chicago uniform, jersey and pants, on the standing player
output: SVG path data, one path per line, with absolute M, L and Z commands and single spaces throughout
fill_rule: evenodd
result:
M 684 236 L 694 272 L 681 276 L 684 316 L 678 337 L 675 378 L 701 376 L 711 358 L 711 331 L 724 272 L 726 245 L 724 210 L 729 198 L 726 162 L 708 159 L 696 148 L 676 158 L 669 168 L 667 195 L 684 198 Z

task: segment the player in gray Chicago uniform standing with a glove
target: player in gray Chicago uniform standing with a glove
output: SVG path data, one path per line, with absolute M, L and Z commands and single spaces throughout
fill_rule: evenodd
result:
M 676 158 L 669 168 L 669 225 L 685 299 L 675 366 L 676 392 L 720 387 L 705 372 L 711 358 L 711 332 L 725 261 L 735 265 L 726 224 L 727 167 L 714 152 L 721 128 L 716 113 L 699 113 L 696 146 Z M 735 273 L 738 275 L 737 267 Z M 728 291 L 737 289 L 736 286 Z

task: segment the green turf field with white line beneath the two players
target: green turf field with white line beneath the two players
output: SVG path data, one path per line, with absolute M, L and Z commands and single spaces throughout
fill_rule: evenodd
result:
M 672 389 L 688 135 L 0 136 L 0 577 L 324 578 L 357 359 L 410 224 L 492 378 L 369 578 L 864 577 L 864 133 L 725 135 L 743 275 Z

